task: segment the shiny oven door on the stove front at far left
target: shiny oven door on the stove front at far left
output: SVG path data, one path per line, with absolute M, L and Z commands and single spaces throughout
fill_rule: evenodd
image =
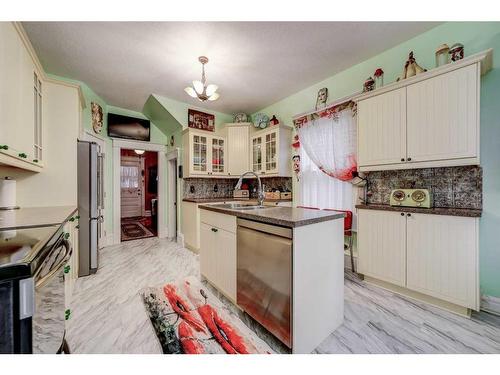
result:
M 64 265 L 71 256 L 71 244 L 61 234 L 35 271 L 35 312 L 32 350 L 36 354 L 60 352 L 65 329 Z

